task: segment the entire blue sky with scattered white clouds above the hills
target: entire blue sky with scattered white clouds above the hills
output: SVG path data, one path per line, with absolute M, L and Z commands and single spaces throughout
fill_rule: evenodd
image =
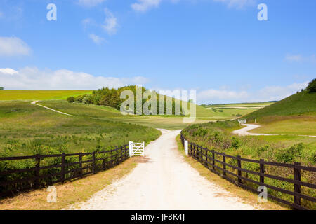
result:
M 55 3 L 57 21 L 46 6 Z M 268 21 L 259 21 L 259 3 Z M 316 78 L 315 0 L 1 0 L 0 86 L 282 99 Z

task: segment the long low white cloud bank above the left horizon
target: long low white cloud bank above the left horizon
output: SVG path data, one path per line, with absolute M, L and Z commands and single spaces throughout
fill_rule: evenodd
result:
M 143 85 L 147 78 L 114 78 L 93 76 L 84 72 L 60 69 L 39 70 L 36 67 L 25 67 L 18 71 L 0 70 L 0 83 L 6 90 L 96 90 L 101 87 L 121 87 L 124 85 Z

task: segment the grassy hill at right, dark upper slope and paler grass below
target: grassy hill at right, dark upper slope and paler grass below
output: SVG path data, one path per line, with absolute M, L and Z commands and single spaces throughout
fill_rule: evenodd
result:
M 254 133 L 316 136 L 316 93 L 298 92 L 243 118 L 260 123 Z

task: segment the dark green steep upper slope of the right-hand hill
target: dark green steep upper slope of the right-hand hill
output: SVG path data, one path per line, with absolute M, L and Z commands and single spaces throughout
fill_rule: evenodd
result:
M 271 117 L 301 116 L 316 114 L 316 93 L 306 91 L 298 92 L 275 104 L 254 111 L 244 116 L 248 122 L 257 119 L 258 122 L 266 122 Z

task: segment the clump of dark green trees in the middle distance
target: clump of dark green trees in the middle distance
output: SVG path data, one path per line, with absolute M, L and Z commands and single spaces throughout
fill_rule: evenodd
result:
M 121 99 L 121 92 L 124 90 L 131 90 L 134 94 L 134 113 L 136 113 L 136 90 L 139 88 L 137 85 L 129 85 L 125 87 L 120 87 L 118 89 L 110 89 L 108 87 L 103 87 L 102 89 L 95 90 L 91 94 L 79 95 L 77 97 L 68 97 L 67 101 L 70 103 L 84 103 L 84 104 L 95 104 L 103 106 L 111 106 L 114 109 L 120 109 L 121 103 L 126 99 Z M 147 89 L 142 87 L 142 92 L 145 92 Z M 147 99 L 142 99 L 142 106 L 145 104 Z M 164 96 L 164 113 L 166 114 L 166 96 Z M 172 113 L 175 114 L 176 100 L 172 99 Z M 157 96 L 157 113 L 159 111 L 159 97 Z M 183 112 L 181 111 L 181 115 Z

